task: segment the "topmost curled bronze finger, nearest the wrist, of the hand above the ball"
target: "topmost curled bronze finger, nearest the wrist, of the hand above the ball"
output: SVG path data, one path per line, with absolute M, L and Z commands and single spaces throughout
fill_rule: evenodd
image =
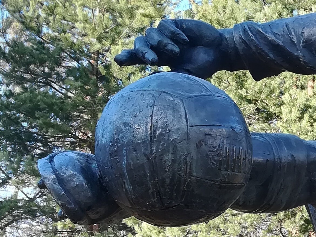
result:
M 171 20 L 161 20 L 158 24 L 157 29 L 172 40 L 177 40 L 182 44 L 186 44 L 189 42 L 185 34 L 181 30 L 179 30 L 175 26 L 174 22 Z

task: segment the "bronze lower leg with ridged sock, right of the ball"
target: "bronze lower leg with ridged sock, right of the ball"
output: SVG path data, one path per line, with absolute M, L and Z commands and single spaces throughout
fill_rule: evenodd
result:
M 313 204 L 316 146 L 307 143 L 290 134 L 252 133 L 250 180 L 232 208 L 269 213 Z

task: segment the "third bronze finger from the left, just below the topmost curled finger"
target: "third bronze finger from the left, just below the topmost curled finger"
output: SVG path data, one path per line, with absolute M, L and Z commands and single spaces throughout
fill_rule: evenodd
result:
M 178 46 L 157 28 L 148 28 L 146 30 L 146 41 L 152 48 L 165 52 L 172 57 L 176 57 L 180 53 Z

